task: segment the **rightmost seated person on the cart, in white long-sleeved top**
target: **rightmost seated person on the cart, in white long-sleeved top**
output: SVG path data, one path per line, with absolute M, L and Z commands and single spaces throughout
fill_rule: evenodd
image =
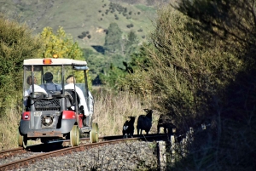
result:
M 86 105 L 84 93 L 78 86 L 74 85 L 74 83 L 76 82 L 75 77 L 73 77 L 73 75 L 68 76 L 66 79 L 66 82 L 67 82 L 67 85 L 64 87 L 65 89 L 74 89 L 74 87 L 75 87 L 76 92 L 79 95 L 79 100 L 80 100 L 79 108 L 81 108 L 81 106 L 83 106 L 84 107 L 84 115 L 85 115 L 85 117 L 88 117 L 90 113 L 89 113 L 87 105 Z

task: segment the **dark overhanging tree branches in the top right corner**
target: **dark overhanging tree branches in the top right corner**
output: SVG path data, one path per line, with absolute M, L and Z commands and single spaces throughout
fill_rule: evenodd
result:
M 252 66 L 256 49 L 254 1 L 183 0 L 174 7 L 189 16 L 187 30 L 195 34 L 202 46 L 219 44 L 225 51 L 240 55 L 242 60 L 247 60 L 248 65 Z M 243 58 L 244 54 L 250 55 Z

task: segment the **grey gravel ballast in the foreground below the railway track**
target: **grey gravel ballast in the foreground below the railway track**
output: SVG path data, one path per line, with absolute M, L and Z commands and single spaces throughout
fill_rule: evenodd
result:
M 50 157 L 16 170 L 156 170 L 155 142 L 135 141 L 104 145 L 62 157 Z

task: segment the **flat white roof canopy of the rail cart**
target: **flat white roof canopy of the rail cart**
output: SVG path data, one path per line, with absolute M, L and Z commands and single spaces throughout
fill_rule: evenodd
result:
M 31 65 L 38 65 L 38 66 L 46 66 L 44 64 L 44 60 L 51 60 L 49 66 L 58 66 L 58 65 L 65 65 L 65 66 L 87 66 L 87 62 L 84 60 L 72 60 L 72 59 L 64 59 L 64 58 L 48 58 L 48 59 L 28 59 L 23 61 L 23 66 L 31 66 Z

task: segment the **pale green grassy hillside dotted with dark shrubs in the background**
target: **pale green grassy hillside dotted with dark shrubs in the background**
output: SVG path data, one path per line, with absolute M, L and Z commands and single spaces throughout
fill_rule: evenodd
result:
M 166 2 L 166 1 L 160 1 Z M 50 26 L 56 31 L 62 26 L 81 48 L 103 45 L 105 31 L 115 22 L 123 31 L 135 31 L 140 42 L 152 28 L 159 1 L 141 0 L 0 0 L 1 10 L 20 22 L 26 22 L 34 33 Z

